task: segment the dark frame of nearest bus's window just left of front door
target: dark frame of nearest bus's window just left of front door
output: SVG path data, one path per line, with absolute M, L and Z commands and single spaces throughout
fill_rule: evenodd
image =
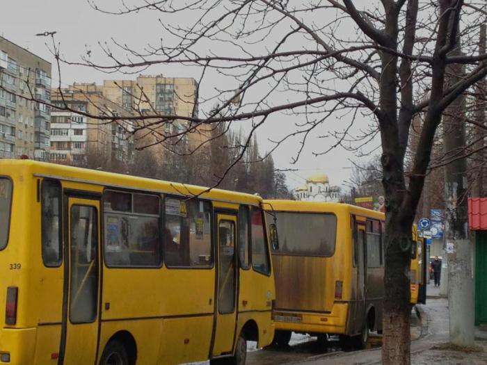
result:
M 172 195 L 172 194 L 163 194 L 163 197 L 161 199 L 161 216 L 163 216 L 162 220 L 163 220 L 163 225 L 161 226 L 163 229 L 166 229 L 166 198 L 173 198 L 173 199 L 177 199 L 177 200 L 188 200 L 187 198 L 184 198 L 184 196 L 182 195 Z M 166 262 L 166 248 L 164 247 L 164 232 L 162 232 L 162 229 L 161 229 L 161 240 L 162 240 L 162 243 L 161 243 L 161 250 L 162 250 L 162 258 L 163 258 L 163 266 L 165 268 L 167 268 L 168 270 L 212 270 L 214 269 L 215 267 L 215 257 L 216 257 L 216 253 L 215 253 L 215 250 L 216 250 L 216 245 L 215 245 L 215 232 L 214 232 L 214 224 L 215 224 L 215 207 L 214 207 L 214 204 L 213 204 L 213 200 L 211 199 L 202 199 L 200 197 L 196 198 L 195 199 L 196 202 L 209 202 L 209 225 L 210 225 L 210 230 L 209 230 L 209 234 L 210 234 L 210 237 L 209 237 L 209 244 L 210 244 L 210 248 L 209 248 L 209 252 L 211 254 L 211 265 L 209 266 L 174 266 L 174 265 L 171 265 L 171 266 L 168 266 L 168 263 Z M 216 200 L 218 201 L 218 200 Z M 162 213 L 163 212 L 163 213 Z M 220 210 L 218 210 L 218 213 L 220 212 Z M 234 214 L 235 212 L 232 211 L 232 214 Z

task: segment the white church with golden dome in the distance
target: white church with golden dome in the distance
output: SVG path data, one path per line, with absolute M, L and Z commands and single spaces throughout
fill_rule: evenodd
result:
M 295 190 L 297 200 L 310 202 L 340 202 L 340 187 L 330 186 L 328 176 L 316 172 L 306 179 L 306 184 Z

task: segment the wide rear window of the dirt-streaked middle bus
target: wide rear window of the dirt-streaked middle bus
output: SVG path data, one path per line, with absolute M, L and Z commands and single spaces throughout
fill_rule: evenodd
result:
M 280 249 L 276 254 L 332 256 L 337 217 L 330 213 L 277 212 Z

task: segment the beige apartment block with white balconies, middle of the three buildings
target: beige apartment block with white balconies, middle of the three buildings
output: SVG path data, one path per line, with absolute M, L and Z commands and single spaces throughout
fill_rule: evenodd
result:
M 51 93 L 53 104 L 59 106 L 51 113 L 51 161 L 90 168 L 130 162 L 134 129 L 123 119 L 131 115 L 129 111 L 106 99 L 94 83 L 69 86 L 62 97 L 58 90 Z M 99 115 L 120 116 L 120 120 L 99 120 L 95 117 Z

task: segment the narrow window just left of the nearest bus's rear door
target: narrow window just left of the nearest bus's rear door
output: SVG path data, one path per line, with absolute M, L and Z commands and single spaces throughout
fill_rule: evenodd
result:
M 41 185 L 42 261 L 45 266 L 61 264 L 61 183 L 43 180 Z

